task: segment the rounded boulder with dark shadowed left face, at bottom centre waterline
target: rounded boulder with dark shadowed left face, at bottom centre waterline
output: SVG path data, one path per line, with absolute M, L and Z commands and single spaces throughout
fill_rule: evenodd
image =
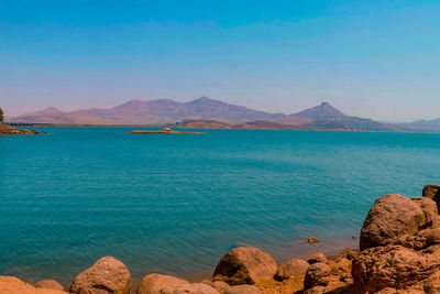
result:
M 278 266 L 275 260 L 257 248 L 239 247 L 219 261 L 212 281 L 230 285 L 255 284 L 272 280 Z

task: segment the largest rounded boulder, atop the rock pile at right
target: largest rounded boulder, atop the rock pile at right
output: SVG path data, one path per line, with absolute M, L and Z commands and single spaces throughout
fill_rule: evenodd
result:
M 410 198 L 397 194 L 382 196 L 362 226 L 360 249 L 386 246 L 404 235 L 414 235 L 425 221 L 424 210 Z

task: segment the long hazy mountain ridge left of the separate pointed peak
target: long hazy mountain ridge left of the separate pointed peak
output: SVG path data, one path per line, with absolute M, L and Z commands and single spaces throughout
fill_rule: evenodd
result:
M 282 116 L 284 115 L 257 111 L 243 106 L 201 97 L 184 104 L 167 99 L 131 100 L 109 109 L 90 108 L 70 112 L 47 108 L 12 118 L 11 120 L 38 123 L 160 124 L 184 119 L 205 119 L 233 123 L 246 120 L 273 119 Z

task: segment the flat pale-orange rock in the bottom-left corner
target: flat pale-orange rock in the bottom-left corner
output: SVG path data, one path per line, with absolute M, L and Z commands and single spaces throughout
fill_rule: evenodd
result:
M 15 276 L 0 275 L 0 294 L 68 294 L 53 288 L 36 288 Z

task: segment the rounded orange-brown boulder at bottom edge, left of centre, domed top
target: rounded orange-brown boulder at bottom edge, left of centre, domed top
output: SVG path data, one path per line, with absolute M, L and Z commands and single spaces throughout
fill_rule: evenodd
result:
M 129 294 L 131 274 L 129 269 L 112 257 L 99 259 L 95 264 L 78 274 L 70 286 L 77 294 Z

